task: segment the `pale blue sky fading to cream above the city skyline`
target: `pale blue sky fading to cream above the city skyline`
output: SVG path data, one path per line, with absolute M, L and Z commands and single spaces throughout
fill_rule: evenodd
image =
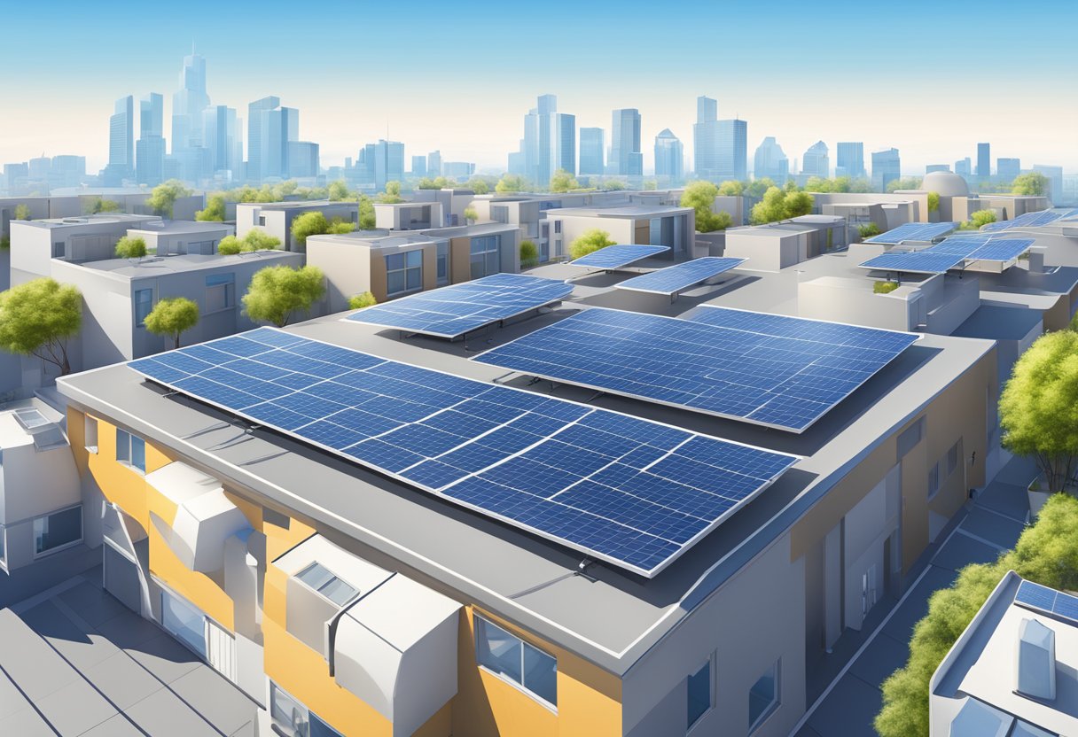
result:
M 872 10 L 877 6 L 879 10 Z M 1078 3 L 593 1 L 258 4 L 50 2 L 4 9 L 0 162 L 107 155 L 113 100 L 207 58 L 215 103 L 278 95 L 323 164 L 389 135 L 405 153 L 505 166 L 544 93 L 578 126 L 642 115 L 645 162 L 669 127 L 691 149 L 695 97 L 800 159 L 823 139 L 896 145 L 903 169 L 993 143 L 1078 171 Z M 17 71 L 13 71 L 17 70 Z M 168 124 L 166 123 L 166 134 Z

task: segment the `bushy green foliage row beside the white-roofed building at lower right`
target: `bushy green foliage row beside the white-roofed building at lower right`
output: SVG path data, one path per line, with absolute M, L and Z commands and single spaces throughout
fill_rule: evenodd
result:
M 875 718 L 881 737 L 928 737 L 929 680 L 1007 571 L 1052 588 L 1078 588 L 1076 529 L 1078 500 L 1053 495 L 1013 551 L 993 564 L 967 566 L 949 588 L 932 594 L 928 614 L 913 630 L 906 666 L 884 681 L 883 709 Z

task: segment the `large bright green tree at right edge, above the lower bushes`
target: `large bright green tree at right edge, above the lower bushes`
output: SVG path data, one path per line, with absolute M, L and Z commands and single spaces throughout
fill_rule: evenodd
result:
M 1078 333 L 1040 336 L 1022 353 L 999 400 L 1004 447 L 1029 456 L 1051 491 L 1078 476 Z

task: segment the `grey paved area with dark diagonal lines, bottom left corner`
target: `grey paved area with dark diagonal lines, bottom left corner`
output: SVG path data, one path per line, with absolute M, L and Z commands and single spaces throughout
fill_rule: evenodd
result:
M 248 737 L 257 712 L 100 569 L 0 610 L 0 735 Z

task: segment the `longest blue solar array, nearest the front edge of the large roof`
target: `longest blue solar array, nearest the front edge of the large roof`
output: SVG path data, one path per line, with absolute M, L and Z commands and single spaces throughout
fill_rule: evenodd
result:
M 797 462 L 271 328 L 128 365 L 184 394 L 649 578 Z

